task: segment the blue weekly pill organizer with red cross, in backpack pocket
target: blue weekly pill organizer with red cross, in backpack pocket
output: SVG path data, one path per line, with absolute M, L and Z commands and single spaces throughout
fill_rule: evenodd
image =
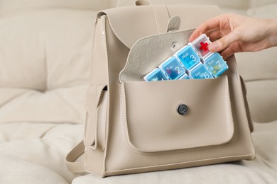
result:
M 143 77 L 145 81 L 175 79 L 217 78 L 228 69 L 228 65 L 217 52 L 210 52 L 210 40 L 202 34 L 193 42 L 175 52 L 158 68 Z

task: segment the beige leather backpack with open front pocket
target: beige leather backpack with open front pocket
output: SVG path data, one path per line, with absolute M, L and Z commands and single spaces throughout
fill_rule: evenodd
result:
M 67 156 L 70 171 L 104 177 L 255 158 L 234 56 L 216 79 L 143 81 L 188 44 L 192 28 L 218 14 L 217 6 L 187 5 L 97 14 L 85 137 Z M 180 104 L 188 106 L 186 115 L 177 112 Z

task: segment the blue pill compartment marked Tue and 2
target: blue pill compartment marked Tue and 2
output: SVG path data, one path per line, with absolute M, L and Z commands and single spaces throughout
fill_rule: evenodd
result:
M 159 68 L 165 72 L 170 80 L 179 79 L 180 76 L 185 74 L 185 69 L 175 57 L 166 59 L 165 62 L 159 66 Z

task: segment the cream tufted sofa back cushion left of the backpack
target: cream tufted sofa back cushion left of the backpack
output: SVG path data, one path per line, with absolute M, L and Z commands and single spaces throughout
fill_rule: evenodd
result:
M 0 19 L 0 122 L 85 122 L 95 11 L 43 8 Z

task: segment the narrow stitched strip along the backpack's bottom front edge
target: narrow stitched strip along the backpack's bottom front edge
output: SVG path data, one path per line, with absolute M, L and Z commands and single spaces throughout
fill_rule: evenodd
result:
M 125 170 L 119 170 L 119 171 L 106 171 L 104 172 L 104 176 L 109 176 L 112 174 L 119 174 L 119 173 L 134 173 L 136 171 L 138 172 L 143 172 L 143 171 L 154 171 L 153 169 L 156 168 L 163 168 L 163 169 L 168 169 L 168 168 L 181 168 L 183 166 L 190 165 L 191 163 L 200 163 L 199 166 L 203 165 L 202 163 L 214 163 L 213 161 L 220 161 L 225 162 L 225 159 L 231 159 L 230 161 L 234 161 L 232 158 L 237 158 L 237 159 L 245 159 L 246 157 L 252 156 L 251 154 L 246 154 L 246 155 L 240 155 L 240 156 L 223 156 L 219 157 L 216 159 L 205 159 L 205 160 L 200 160 L 200 161 L 187 161 L 183 163 L 172 163 L 168 165 L 161 165 L 161 166 L 148 166 L 148 167 L 143 167 L 143 168 L 127 168 Z M 235 159 L 235 160 L 237 160 Z M 127 171 L 127 172 L 126 172 Z M 128 172 L 128 171 L 134 171 L 134 172 Z

